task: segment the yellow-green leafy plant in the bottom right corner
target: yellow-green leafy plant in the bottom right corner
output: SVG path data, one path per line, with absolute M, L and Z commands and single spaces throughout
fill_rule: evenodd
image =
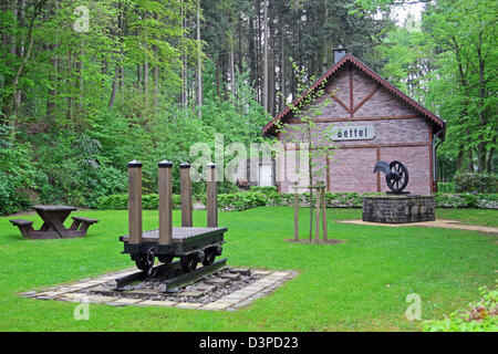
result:
M 498 289 L 479 288 L 481 300 L 468 304 L 467 310 L 453 312 L 445 320 L 424 323 L 425 332 L 497 332 Z

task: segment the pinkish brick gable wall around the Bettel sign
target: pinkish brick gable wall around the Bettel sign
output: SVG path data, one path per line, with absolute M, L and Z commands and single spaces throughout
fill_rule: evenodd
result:
M 353 107 L 351 108 L 350 75 L 353 77 Z M 362 106 L 359 106 L 372 92 L 376 92 Z M 329 94 L 323 95 L 318 102 L 325 102 L 325 107 L 319 116 L 318 122 L 324 119 L 340 119 L 340 122 L 323 122 L 318 124 L 313 133 L 320 133 L 333 125 L 333 128 L 347 125 L 375 126 L 373 139 L 336 142 L 338 149 L 330 159 L 328 176 L 318 177 L 317 180 L 326 181 L 332 191 L 378 191 L 378 178 L 381 191 L 388 188 L 382 174 L 373 174 L 373 168 L 380 155 L 381 160 L 387 163 L 401 160 L 408 168 L 409 183 L 407 191 L 414 194 L 430 194 L 430 127 L 427 118 L 421 116 L 416 111 L 405 104 L 398 97 L 392 95 L 387 90 L 378 87 L 377 83 L 369 79 L 359 70 L 344 67 L 334 74 L 333 80 L 326 85 L 328 92 L 334 92 L 350 111 L 341 106 Z M 354 113 L 351 111 L 355 110 Z M 293 118 L 290 116 L 290 118 Z M 318 134 L 320 136 L 320 134 Z M 280 134 L 282 143 L 295 140 L 289 134 Z M 280 160 L 283 164 L 283 160 Z M 325 162 L 321 163 L 322 166 Z M 283 174 L 294 164 L 287 162 L 281 165 L 280 176 L 282 192 L 290 192 L 292 181 L 286 180 Z M 301 185 L 307 185 L 302 180 Z

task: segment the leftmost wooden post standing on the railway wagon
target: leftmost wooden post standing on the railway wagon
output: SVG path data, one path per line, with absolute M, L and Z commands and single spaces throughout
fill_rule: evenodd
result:
M 142 243 L 142 163 L 128 163 L 128 243 Z

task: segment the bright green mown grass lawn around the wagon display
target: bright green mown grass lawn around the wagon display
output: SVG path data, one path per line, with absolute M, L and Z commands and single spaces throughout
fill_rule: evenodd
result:
M 220 212 L 228 227 L 224 256 L 230 266 L 297 270 L 270 296 L 235 312 L 90 304 L 90 321 L 75 321 L 76 303 L 41 301 L 19 293 L 133 267 L 121 254 L 126 211 L 79 211 L 100 219 L 84 239 L 23 240 L 0 218 L 0 331 L 419 331 L 405 311 L 411 293 L 422 298 L 422 317 L 478 300 L 478 288 L 497 278 L 498 238 L 465 230 L 336 223 L 360 219 L 361 209 L 330 209 L 329 237 L 340 244 L 286 242 L 293 235 L 291 208 Z M 302 238 L 309 211 L 301 209 Z M 438 218 L 497 227 L 495 210 L 438 210 Z M 194 223 L 205 225 L 205 211 Z M 22 218 L 34 220 L 35 215 Z M 179 212 L 174 214 L 179 225 Z M 157 212 L 144 211 L 144 229 Z

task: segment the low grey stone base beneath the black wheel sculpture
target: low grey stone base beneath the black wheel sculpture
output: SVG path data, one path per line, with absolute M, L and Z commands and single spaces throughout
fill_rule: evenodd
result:
M 363 221 L 406 223 L 436 220 L 434 196 L 386 195 L 363 198 Z

